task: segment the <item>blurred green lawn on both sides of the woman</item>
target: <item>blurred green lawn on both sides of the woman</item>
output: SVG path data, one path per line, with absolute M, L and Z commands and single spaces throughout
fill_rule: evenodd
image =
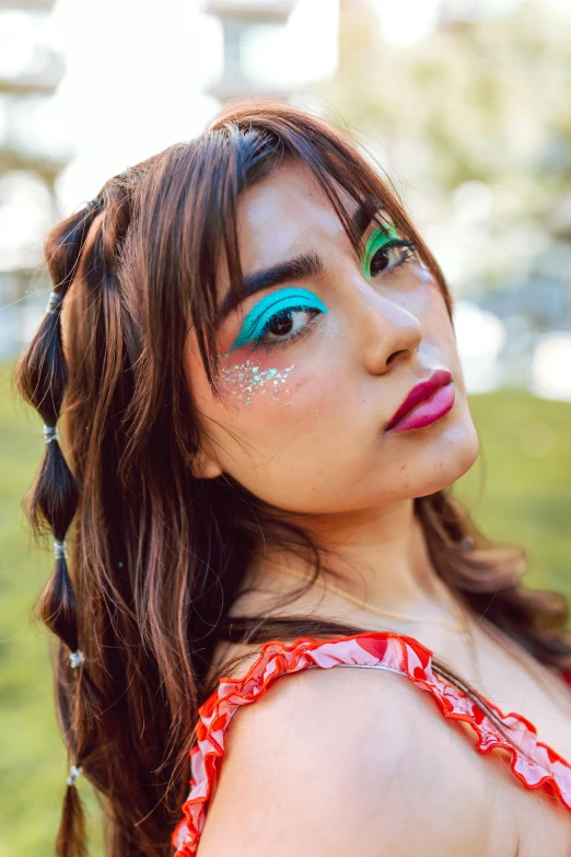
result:
M 456 494 L 480 528 L 527 551 L 526 582 L 571 595 L 571 404 L 515 392 L 475 396 L 481 456 Z M 50 544 L 24 531 L 21 498 L 43 454 L 42 425 L 0 372 L 0 857 L 48 857 L 67 776 L 47 634 L 32 622 Z M 88 784 L 79 783 L 83 796 Z M 90 801 L 93 807 L 93 800 Z M 93 813 L 92 813 L 93 818 Z M 97 825 L 93 825 L 96 827 Z M 95 835 L 93 854 L 101 854 Z

